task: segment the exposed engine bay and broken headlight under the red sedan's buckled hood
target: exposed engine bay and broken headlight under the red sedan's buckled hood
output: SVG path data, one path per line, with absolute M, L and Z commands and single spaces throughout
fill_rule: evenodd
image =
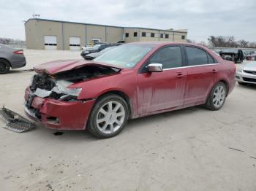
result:
M 84 66 L 71 71 L 49 75 L 45 72 L 32 78 L 30 90 L 41 98 L 54 98 L 61 101 L 76 101 L 81 88 L 68 88 L 76 82 L 82 82 L 94 77 L 116 74 L 120 69 L 104 66 Z

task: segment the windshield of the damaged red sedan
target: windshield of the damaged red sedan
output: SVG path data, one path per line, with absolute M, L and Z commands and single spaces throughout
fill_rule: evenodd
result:
M 153 44 L 124 44 L 105 52 L 94 61 L 132 68 L 154 47 Z

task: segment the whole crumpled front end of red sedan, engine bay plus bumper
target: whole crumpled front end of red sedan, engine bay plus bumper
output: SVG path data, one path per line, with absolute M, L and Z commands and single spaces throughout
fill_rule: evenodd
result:
M 48 128 L 83 130 L 95 98 L 78 99 L 83 85 L 78 88 L 72 85 L 114 73 L 116 70 L 110 68 L 86 66 L 61 74 L 36 74 L 26 88 L 25 112 Z

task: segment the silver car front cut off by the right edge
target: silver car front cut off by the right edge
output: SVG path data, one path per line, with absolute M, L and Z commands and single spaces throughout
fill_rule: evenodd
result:
M 236 71 L 236 81 L 239 85 L 256 85 L 256 61 L 249 61 Z

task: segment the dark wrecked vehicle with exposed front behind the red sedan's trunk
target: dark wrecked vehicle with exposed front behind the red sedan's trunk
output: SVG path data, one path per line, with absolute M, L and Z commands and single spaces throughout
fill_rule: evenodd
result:
M 244 61 L 244 52 L 241 49 L 227 49 L 219 52 L 219 55 L 227 61 L 242 63 Z

